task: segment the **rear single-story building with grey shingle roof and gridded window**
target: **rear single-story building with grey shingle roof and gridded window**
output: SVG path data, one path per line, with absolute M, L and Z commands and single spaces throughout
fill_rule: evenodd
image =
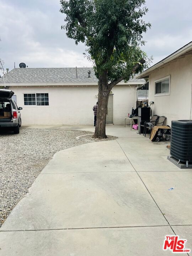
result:
M 88 71 L 90 72 L 88 73 Z M 137 87 L 144 79 L 114 86 L 107 123 L 123 124 L 137 105 Z M 93 68 L 15 68 L 0 78 L 22 107 L 22 124 L 93 124 L 98 80 Z

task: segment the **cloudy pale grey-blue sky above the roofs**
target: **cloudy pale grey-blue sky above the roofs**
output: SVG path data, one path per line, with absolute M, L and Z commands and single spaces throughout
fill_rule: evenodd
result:
M 144 16 L 151 29 L 142 49 L 155 64 L 192 41 L 191 0 L 146 0 Z M 83 44 L 75 45 L 61 30 L 64 15 L 59 0 L 0 0 L 0 58 L 4 69 L 90 67 Z

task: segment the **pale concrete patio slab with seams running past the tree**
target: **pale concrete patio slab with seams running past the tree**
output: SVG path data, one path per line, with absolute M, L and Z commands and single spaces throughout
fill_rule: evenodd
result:
M 106 130 L 118 139 L 53 156 L 2 225 L 0 254 L 168 256 L 174 254 L 163 251 L 164 238 L 174 234 L 192 249 L 191 169 L 166 159 L 166 142 L 129 127 Z

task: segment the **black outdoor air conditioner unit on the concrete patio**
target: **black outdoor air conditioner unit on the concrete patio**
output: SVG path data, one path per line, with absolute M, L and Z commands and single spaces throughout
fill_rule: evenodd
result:
M 192 120 L 172 121 L 170 155 L 186 167 L 192 163 Z

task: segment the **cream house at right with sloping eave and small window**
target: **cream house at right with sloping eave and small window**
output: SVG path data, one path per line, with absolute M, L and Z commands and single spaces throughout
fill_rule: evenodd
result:
M 192 42 L 136 75 L 149 79 L 152 113 L 172 120 L 191 119 L 192 114 Z

